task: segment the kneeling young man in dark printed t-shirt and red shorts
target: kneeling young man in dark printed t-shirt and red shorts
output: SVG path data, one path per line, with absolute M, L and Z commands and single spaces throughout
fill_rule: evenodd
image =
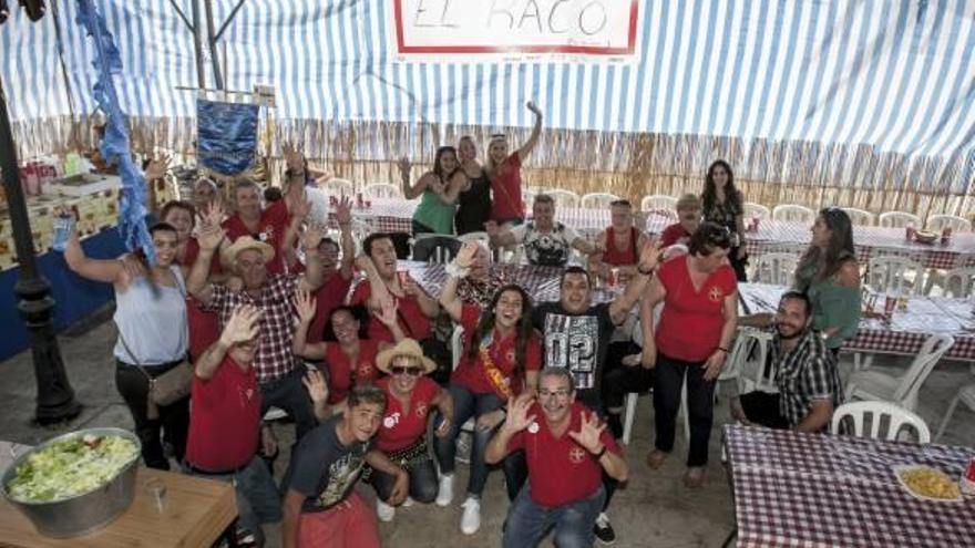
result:
M 410 477 L 372 449 L 386 410 L 386 394 L 371 385 L 349 391 L 348 409 L 309 432 L 291 459 L 285 519 L 285 548 L 379 547 L 372 510 L 355 493 L 365 464 L 396 477 L 389 504 L 407 498 Z

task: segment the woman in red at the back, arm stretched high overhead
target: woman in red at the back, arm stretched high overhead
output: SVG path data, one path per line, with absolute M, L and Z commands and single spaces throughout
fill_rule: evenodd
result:
M 532 148 L 538 143 L 538 135 L 542 134 L 542 111 L 531 101 L 526 106 L 535 114 L 535 126 L 532 127 L 528 141 L 521 148 L 509 155 L 507 137 L 503 134 L 492 135 L 488 143 L 484 173 L 491 180 L 491 192 L 494 195 L 494 201 L 491 204 L 491 220 L 499 225 L 521 224 L 525 220 L 525 204 L 522 200 L 522 163 L 532 153 Z

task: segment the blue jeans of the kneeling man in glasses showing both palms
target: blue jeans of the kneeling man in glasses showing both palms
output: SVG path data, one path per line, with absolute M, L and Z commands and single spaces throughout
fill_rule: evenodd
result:
M 599 487 L 582 500 L 546 508 L 532 500 L 532 484 L 525 484 L 507 513 L 504 548 L 534 548 L 551 528 L 555 528 L 555 546 L 582 548 L 593 546 L 596 516 L 603 508 L 606 493 Z

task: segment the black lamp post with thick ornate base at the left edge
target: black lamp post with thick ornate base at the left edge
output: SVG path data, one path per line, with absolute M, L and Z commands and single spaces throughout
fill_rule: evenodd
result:
M 3 83 L 0 82 L 0 173 L 3 175 L 10 225 L 20 262 L 20 276 L 13 286 L 13 292 L 20 299 L 17 308 L 27 324 L 33 354 L 34 380 L 38 385 L 34 418 L 40 424 L 52 424 L 74 418 L 81 412 L 81 405 L 74 400 L 74 390 L 68 381 L 61 350 L 54 337 L 51 322 L 54 299 L 50 296 L 51 285 L 38 272 L 30 219 L 17 165 L 17 148 L 7 113 L 7 95 L 3 93 Z

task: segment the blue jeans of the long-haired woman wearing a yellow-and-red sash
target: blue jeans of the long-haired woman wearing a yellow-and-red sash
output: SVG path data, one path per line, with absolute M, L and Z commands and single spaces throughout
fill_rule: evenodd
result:
M 453 399 L 453 423 L 450 425 L 450 434 L 444 437 L 435 437 L 433 441 L 437 461 L 440 464 L 442 474 L 453 474 L 454 458 L 456 457 L 456 438 L 461 432 L 461 426 L 469 418 L 476 417 L 490 413 L 504 405 L 494 393 L 475 394 L 470 390 L 451 383 L 448 386 L 450 396 Z M 439 424 L 439 418 L 433 423 Z M 488 464 L 484 463 L 484 452 L 488 449 L 488 442 L 497 427 L 491 430 L 481 430 L 475 427 L 472 436 L 473 446 L 471 447 L 471 477 L 468 480 L 468 495 L 475 497 L 484 493 L 484 484 L 488 483 Z M 502 463 L 504 469 L 504 479 L 507 484 L 507 497 L 514 499 L 525 482 L 527 472 L 525 471 L 524 453 L 515 452 L 504 458 Z

